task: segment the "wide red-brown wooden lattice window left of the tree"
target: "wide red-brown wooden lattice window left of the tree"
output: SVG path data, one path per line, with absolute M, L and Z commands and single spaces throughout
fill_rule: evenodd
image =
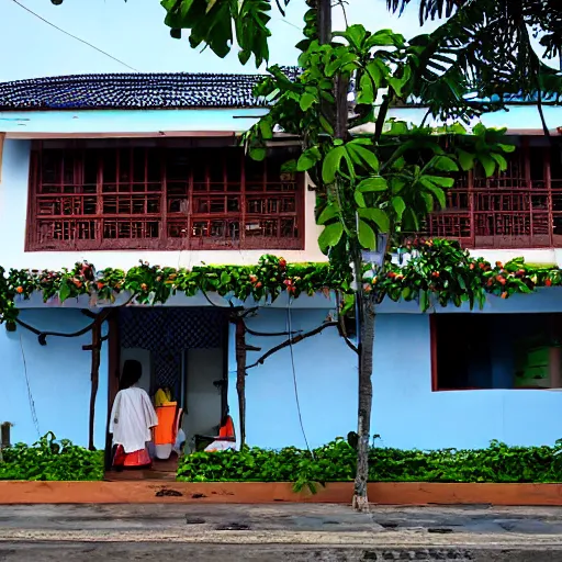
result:
M 239 148 L 32 153 L 27 250 L 303 249 L 304 179 Z

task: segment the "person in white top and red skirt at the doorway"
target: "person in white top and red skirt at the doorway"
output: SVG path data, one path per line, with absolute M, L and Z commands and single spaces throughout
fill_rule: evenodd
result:
M 136 386 L 142 374 L 138 361 L 125 361 L 110 420 L 115 447 L 113 467 L 117 470 L 150 465 L 147 442 L 153 438 L 151 428 L 158 425 L 158 418 L 148 394 Z

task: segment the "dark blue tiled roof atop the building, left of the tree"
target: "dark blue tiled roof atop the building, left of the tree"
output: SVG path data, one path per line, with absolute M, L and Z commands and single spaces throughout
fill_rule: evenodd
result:
M 294 68 L 285 68 L 293 75 Z M 128 74 L 0 83 L 0 110 L 255 108 L 260 75 Z

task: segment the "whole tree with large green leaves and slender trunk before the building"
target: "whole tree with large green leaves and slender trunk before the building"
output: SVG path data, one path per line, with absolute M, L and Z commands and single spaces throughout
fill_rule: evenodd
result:
M 305 19 L 312 25 L 314 13 Z M 273 130 L 299 134 L 303 150 L 286 168 L 306 171 L 317 190 L 317 222 L 324 226 L 318 243 L 335 267 L 356 273 L 360 334 L 358 473 L 355 505 L 367 508 L 368 448 L 370 440 L 375 303 L 382 294 L 362 282 L 363 250 L 376 248 L 378 236 L 395 240 L 402 232 L 416 232 L 427 213 L 445 206 L 446 189 L 454 176 L 476 164 L 487 175 L 506 167 L 502 131 L 474 127 L 468 135 L 460 125 L 430 128 L 387 120 L 400 99 L 419 88 L 424 49 L 390 30 L 368 32 L 351 25 L 322 44 L 311 37 L 301 45 L 302 72 L 292 80 L 279 67 L 256 93 L 271 101 L 270 112 L 245 136 L 254 158 L 266 157 Z M 348 114 L 348 85 L 355 94 Z M 382 103 L 374 104 L 379 93 Z M 341 112 L 345 111 L 342 115 Z M 373 121 L 373 134 L 353 136 L 351 127 Z M 384 266 L 383 266 L 384 267 Z M 381 270 L 383 268 L 380 268 Z M 379 270 L 379 274 L 382 271 Z

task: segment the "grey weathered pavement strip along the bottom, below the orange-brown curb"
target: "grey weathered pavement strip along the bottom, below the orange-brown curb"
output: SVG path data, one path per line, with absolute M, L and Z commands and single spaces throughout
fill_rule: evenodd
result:
M 0 561 L 562 561 L 562 508 L 0 506 Z

